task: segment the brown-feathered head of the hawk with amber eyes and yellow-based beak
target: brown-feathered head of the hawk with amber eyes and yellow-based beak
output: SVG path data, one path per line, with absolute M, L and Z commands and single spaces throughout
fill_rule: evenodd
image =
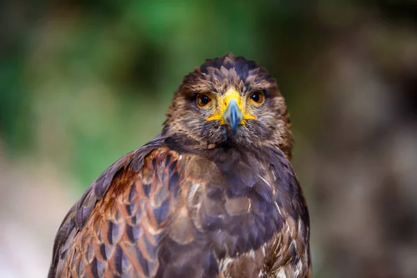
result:
M 277 145 L 291 158 L 293 136 L 275 79 L 254 61 L 228 53 L 186 75 L 167 111 L 163 133 L 201 148 Z

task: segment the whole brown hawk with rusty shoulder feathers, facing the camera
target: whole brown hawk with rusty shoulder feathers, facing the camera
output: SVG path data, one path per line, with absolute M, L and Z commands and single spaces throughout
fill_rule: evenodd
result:
M 183 78 L 161 134 L 65 216 L 49 277 L 311 277 L 309 212 L 275 79 L 228 53 Z

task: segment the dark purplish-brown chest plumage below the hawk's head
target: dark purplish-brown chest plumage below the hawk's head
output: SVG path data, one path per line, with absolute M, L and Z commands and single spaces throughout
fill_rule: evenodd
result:
M 288 222 L 298 201 L 291 201 L 294 190 L 286 172 L 250 156 L 220 162 L 181 158 L 177 210 L 159 244 L 161 254 L 170 254 L 163 264 L 172 264 L 175 254 L 175 265 L 193 269 L 194 277 L 203 272 L 207 277 L 272 277 L 289 257 L 300 261 L 294 254 L 302 245 L 293 238 L 299 222 Z

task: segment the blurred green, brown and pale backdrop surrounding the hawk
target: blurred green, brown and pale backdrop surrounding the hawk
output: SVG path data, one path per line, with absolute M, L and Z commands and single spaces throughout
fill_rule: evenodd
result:
M 46 277 L 88 185 L 232 51 L 286 97 L 314 277 L 416 277 L 417 2 L 29 1 L 0 8 L 0 277 Z

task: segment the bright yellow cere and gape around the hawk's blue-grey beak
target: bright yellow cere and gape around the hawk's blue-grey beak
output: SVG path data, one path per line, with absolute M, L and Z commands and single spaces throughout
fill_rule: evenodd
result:
M 220 101 L 220 111 L 216 111 L 214 115 L 211 117 L 206 117 L 206 121 L 220 120 L 220 125 L 225 124 L 223 119 L 223 113 L 224 111 L 226 111 L 227 106 L 229 105 L 229 102 L 232 99 L 236 101 L 240 109 L 240 112 L 242 112 L 243 114 L 243 119 L 240 121 L 240 124 L 245 125 L 245 120 L 257 119 L 256 116 L 250 115 L 249 111 L 245 109 L 246 105 L 245 103 L 243 103 L 245 100 L 240 97 L 239 92 L 235 88 L 231 87 L 222 96 L 222 101 Z

